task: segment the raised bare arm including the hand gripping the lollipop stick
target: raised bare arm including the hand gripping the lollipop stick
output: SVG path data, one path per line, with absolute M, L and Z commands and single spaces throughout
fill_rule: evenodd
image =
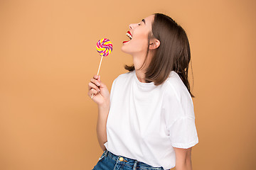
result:
M 92 96 L 92 94 L 94 94 Z M 88 96 L 97 103 L 97 140 L 100 147 L 105 151 L 105 142 L 107 142 L 107 116 L 110 111 L 110 92 L 107 86 L 100 81 L 100 76 L 95 75 L 88 85 Z

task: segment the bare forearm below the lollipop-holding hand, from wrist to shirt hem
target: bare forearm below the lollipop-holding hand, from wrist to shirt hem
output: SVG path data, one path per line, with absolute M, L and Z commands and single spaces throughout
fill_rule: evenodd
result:
M 104 151 L 105 145 L 107 142 L 107 115 L 110 111 L 109 106 L 98 107 L 98 118 L 97 118 L 97 140 L 100 144 L 100 147 Z

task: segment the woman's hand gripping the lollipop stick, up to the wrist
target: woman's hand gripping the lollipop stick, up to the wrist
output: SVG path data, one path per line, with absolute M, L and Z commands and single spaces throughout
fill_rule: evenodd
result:
M 90 96 L 99 107 L 110 107 L 110 92 L 107 86 L 100 81 L 100 76 L 95 75 L 90 80 L 88 96 Z

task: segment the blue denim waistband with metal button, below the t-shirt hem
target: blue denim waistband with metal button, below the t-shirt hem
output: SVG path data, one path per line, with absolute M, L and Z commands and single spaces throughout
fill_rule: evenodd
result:
M 127 157 L 123 156 L 117 156 L 116 154 L 113 154 L 112 152 L 105 150 L 104 152 L 106 157 L 110 157 L 111 159 L 114 160 L 114 162 L 119 162 L 122 164 L 127 164 L 128 166 L 134 167 L 134 169 L 152 169 L 152 170 L 163 170 L 162 167 L 153 167 L 150 166 L 149 164 L 145 164 L 144 162 L 138 162 L 135 159 L 130 159 Z

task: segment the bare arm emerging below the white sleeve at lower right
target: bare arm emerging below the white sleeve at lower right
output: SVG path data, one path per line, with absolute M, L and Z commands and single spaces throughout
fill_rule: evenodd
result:
M 182 149 L 174 147 L 176 154 L 176 170 L 192 170 L 191 149 Z

